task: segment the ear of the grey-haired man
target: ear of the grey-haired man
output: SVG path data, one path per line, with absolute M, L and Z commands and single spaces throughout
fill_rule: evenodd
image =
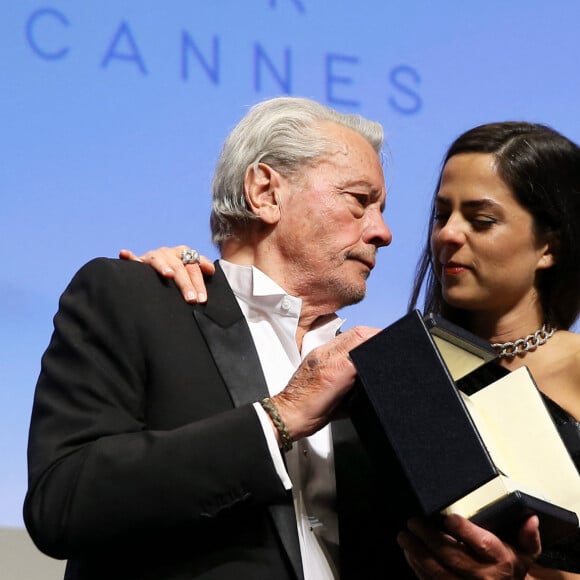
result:
M 250 165 L 244 176 L 244 192 L 250 210 L 266 224 L 280 219 L 282 176 L 266 163 Z

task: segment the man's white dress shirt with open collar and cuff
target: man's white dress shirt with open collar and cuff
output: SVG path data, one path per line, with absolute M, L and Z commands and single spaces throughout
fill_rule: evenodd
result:
M 296 344 L 302 300 L 287 294 L 254 266 L 239 266 L 220 260 L 224 274 L 248 322 L 271 396 L 288 384 L 296 368 L 314 348 L 334 338 L 344 320 L 324 317 Z M 292 489 L 305 580 L 338 578 L 338 521 L 336 481 L 330 426 L 296 441 L 286 453 L 287 470 L 271 423 L 261 405 L 254 405 L 264 427 L 272 460 L 286 489 Z M 332 546 L 329 551 L 328 544 Z

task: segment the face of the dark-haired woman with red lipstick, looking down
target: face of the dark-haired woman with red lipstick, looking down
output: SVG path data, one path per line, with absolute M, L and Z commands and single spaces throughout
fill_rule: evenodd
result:
M 553 256 L 536 239 L 532 223 L 497 174 L 493 155 L 451 157 L 431 231 L 444 300 L 456 308 L 497 312 L 536 302 L 536 271 L 552 266 Z

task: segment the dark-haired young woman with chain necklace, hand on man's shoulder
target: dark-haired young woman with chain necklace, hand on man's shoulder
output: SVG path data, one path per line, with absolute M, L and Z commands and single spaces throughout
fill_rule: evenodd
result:
M 580 313 L 580 148 L 539 124 L 471 129 L 445 155 L 430 217 L 409 308 L 424 296 L 423 312 L 488 340 L 509 370 L 526 365 L 580 471 L 580 335 L 569 330 Z M 203 301 L 201 271 L 194 263 L 185 272 L 184 249 L 121 257 L 153 265 L 186 299 Z M 200 266 L 211 275 L 208 260 Z M 464 577 L 422 533 L 402 538 L 418 576 Z M 463 571 L 482 565 L 460 559 Z M 504 577 L 487 573 L 478 577 Z M 527 578 L 580 578 L 580 534 L 544 550 Z

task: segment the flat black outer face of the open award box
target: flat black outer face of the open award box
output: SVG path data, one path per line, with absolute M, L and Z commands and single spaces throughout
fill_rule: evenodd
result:
M 414 311 L 350 356 L 358 379 L 353 424 L 377 464 L 390 461 L 424 515 L 498 475 L 421 314 Z M 388 473 L 386 474 L 388 476 Z

